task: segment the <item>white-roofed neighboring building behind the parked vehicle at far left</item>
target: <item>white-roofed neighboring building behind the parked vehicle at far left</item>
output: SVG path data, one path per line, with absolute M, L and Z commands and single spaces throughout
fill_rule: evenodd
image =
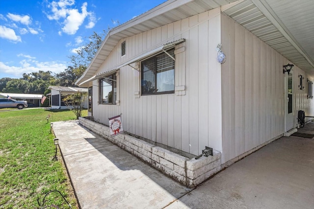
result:
M 43 94 L 0 93 L 0 98 L 7 98 L 8 96 L 15 100 L 27 101 L 28 107 L 40 107 Z

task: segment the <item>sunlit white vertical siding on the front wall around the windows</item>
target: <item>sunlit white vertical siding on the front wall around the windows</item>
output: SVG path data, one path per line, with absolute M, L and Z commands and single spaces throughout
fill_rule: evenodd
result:
M 182 38 L 186 42 L 176 46 L 185 50 L 175 55 L 175 86 L 184 86 L 184 93 L 138 98 L 140 73 L 126 66 L 120 69 L 120 105 L 99 105 L 98 82 L 93 81 L 93 115 L 108 124 L 108 117 L 122 113 L 125 131 L 195 155 L 205 146 L 221 151 L 221 69 L 215 50 L 221 38 L 219 8 L 121 40 L 97 73 Z M 123 41 L 126 55 L 121 58 Z

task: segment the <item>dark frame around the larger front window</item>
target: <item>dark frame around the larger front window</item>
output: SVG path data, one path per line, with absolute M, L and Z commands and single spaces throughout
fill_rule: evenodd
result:
M 167 50 L 162 50 L 162 51 L 159 51 L 158 53 L 156 53 L 156 54 L 153 54 L 152 56 L 149 56 L 149 57 L 146 57 L 145 59 L 143 59 L 143 60 L 141 60 L 140 61 L 140 95 L 141 96 L 147 96 L 147 95 L 161 95 L 161 94 L 171 94 L 171 93 L 175 93 L 175 69 L 176 69 L 176 62 L 175 62 L 175 53 L 173 54 L 173 56 L 170 56 L 170 54 L 169 54 L 169 51 L 171 51 L 171 50 L 173 50 L 173 51 L 175 51 L 175 47 L 171 47 L 171 48 L 169 48 L 169 49 L 167 49 Z M 166 53 L 167 52 L 167 53 Z M 161 54 L 166 54 L 168 57 L 170 57 L 171 58 L 171 60 L 173 60 L 173 63 L 174 63 L 174 69 L 173 69 L 173 73 L 174 73 L 174 84 L 173 84 L 173 90 L 172 91 L 165 91 L 165 92 L 155 92 L 155 93 L 145 93 L 145 94 L 143 94 L 143 88 L 142 88 L 142 78 L 143 78 L 143 69 L 142 69 L 142 63 L 143 62 L 145 62 L 145 61 L 147 61 L 147 60 L 150 60 L 150 59 L 152 59 L 152 58 L 155 58 L 155 63 L 154 63 L 154 65 L 155 65 L 155 68 L 157 68 L 156 67 L 156 65 L 157 65 L 157 56 L 159 56 L 159 55 L 161 55 Z M 157 89 L 157 74 L 155 74 L 155 89 Z

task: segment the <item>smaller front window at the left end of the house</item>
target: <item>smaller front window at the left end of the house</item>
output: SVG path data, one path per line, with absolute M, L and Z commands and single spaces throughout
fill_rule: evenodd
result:
M 116 104 L 117 78 L 115 73 L 100 79 L 99 88 L 100 104 Z

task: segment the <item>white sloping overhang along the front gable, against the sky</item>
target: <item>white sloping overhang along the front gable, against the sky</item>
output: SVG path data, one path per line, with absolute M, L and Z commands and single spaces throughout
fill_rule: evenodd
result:
M 121 39 L 173 23 L 237 0 L 167 0 L 110 30 L 87 70 L 76 84 L 91 78 Z

